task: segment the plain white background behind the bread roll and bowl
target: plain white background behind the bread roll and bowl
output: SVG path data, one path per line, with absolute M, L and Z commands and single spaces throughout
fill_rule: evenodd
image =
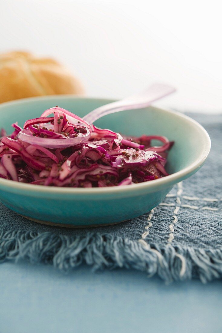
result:
M 219 1 L 0 0 L 0 52 L 53 56 L 89 96 L 163 82 L 177 93 L 156 105 L 220 112 L 221 21 Z

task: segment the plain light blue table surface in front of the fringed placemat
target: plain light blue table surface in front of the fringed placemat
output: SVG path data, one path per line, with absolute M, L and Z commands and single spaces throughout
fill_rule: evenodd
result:
M 165 285 L 118 269 L 67 275 L 49 265 L 0 265 L 0 333 L 222 332 L 222 281 Z

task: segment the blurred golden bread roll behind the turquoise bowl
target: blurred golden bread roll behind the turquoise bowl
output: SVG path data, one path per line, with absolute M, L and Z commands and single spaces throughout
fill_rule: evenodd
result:
M 44 95 L 82 94 L 81 83 L 51 58 L 28 52 L 0 55 L 0 103 Z

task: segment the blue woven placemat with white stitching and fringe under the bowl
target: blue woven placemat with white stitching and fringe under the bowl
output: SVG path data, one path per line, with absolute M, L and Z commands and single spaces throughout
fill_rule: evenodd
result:
M 132 267 L 167 282 L 222 277 L 222 115 L 193 115 L 208 131 L 206 164 L 147 214 L 118 225 L 66 229 L 40 225 L 0 203 L 0 262 L 28 259 L 67 271 Z

